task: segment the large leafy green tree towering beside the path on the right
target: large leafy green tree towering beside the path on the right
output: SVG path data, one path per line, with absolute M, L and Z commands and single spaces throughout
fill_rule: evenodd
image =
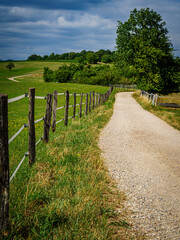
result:
M 134 69 L 138 87 L 146 91 L 168 93 L 178 85 L 179 64 L 165 25 L 149 8 L 134 9 L 128 21 L 118 21 L 118 65 Z

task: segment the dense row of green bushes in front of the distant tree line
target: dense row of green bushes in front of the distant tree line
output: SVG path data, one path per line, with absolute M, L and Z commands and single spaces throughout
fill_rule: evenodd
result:
M 115 66 L 100 65 L 91 67 L 91 65 L 71 64 L 70 66 L 63 65 L 54 72 L 49 68 L 44 68 L 44 80 L 46 82 L 75 82 L 103 86 L 135 83 L 131 70 L 128 70 L 124 74 L 123 71 L 118 70 Z

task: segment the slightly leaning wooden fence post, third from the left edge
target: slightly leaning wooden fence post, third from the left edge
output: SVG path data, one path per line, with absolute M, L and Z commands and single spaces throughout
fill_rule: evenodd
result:
M 44 142 L 49 142 L 49 129 L 51 126 L 52 94 L 47 94 L 46 115 L 44 118 Z

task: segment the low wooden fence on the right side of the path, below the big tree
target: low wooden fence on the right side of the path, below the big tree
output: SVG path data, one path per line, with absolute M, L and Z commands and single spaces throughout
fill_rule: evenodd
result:
M 162 102 L 162 100 L 166 100 L 166 99 L 173 99 L 173 97 L 165 97 L 165 96 L 159 96 L 157 94 L 153 94 L 153 93 L 148 93 L 146 91 L 142 91 L 141 90 L 141 96 L 146 97 L 153 106 L 162 106 L 162 107 L 170 107 L 170 108 L 180 108 L 180 105 L 177 103 L 169 103 L 169 102 Z M 177 97 L 175 97 L 174 99 L 177 100 Z M 179 99 L 178 99 L 179 100 Z M 179 100 L 180 101 L 180 100 Z

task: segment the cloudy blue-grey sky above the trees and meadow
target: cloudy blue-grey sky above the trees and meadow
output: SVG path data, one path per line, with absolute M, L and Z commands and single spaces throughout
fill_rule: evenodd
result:
M 0 0 L 0 60 L 115 50 L 117 21 L 149 7 L 166 22 L 180 56 L 180 0 Z

